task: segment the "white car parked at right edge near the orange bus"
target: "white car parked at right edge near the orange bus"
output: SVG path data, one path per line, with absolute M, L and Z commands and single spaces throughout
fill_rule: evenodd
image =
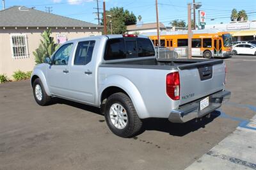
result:
M 252 54 L 256 56 L 256 45 L 252 43 L 239 43 L 232 47 L 232 54 Z

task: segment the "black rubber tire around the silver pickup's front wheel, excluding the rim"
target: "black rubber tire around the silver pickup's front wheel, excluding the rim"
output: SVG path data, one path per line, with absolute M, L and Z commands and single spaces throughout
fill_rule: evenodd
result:
M 42 90 L 42 99 L 38 99 L 38 97 L 36 97 L 36 85 L 40 86 L 41 90 Z M 51 101 L 51 97 L 49 97 L 46 93 L 45 93 L 45 89 L 44 86 L 41 82 L 41 80 L 39 78 L 35 79 L 35 81 L 33 82 L 33 95 L 35 97 L 36 103 L 39 105 L 47 105 L 49 104 L 49 102 Z

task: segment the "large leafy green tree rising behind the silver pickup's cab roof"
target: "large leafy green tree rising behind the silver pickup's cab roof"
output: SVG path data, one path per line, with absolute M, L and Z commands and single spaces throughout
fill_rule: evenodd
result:
M 135 15 L 128 10 L 124 10 L 124 8 L 110 8 L 110 10 L 106 11 L 106 15 L 109 16 L 106 17 L 108 34 L 111 33 L 110 20 L 112 22 L 113 34 L 123 34 L 127 30 L 126 26 L 136 24 L 137 22 Z

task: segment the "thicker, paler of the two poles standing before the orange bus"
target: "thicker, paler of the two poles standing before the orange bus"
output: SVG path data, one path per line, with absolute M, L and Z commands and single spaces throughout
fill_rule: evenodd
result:
M 191 59 L 192 30 L 191 30 L 191 3 L 188 4 L 188 59 Z

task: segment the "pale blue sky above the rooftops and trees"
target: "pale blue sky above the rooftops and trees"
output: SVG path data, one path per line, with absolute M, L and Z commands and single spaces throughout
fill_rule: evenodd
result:
M 96 0 L 5 0 L 6 8 L 14 5 L 35 7 L 36 10 L 45 11 L 45 7 L 51 7 L 52 13 L 74 19 L 84 20 L 97 24 L 95 15 Z M 193 0 L 158 0 L 159 21 L 165 26 L 175 19 L 188 20 L 188 3 Z M 103 0 L 99 0 L 99 8 L 102 8 Z M 200 10 L 206 13 L 206 24 L 220 24 L 230 22 L 230 14 L 233 8 L 237 11 L 245 10 L 249 20 L 256 20 L 256 0 L 198 0 L 202 3 Z M 143 23 L 156 22 L 156 0 L 106 0 L 106 10 L 113 7 L 124 7 L 125 10 L 134 13 L 136 17 L 141 15 Z M 2 8 L 2 4 L 0 6 Z M 100 10 L 102 12 L 102 10 Z M 192 10 L 193 12 L 193 10 Z M 196 21 L 198 12 L 196 12 Z

